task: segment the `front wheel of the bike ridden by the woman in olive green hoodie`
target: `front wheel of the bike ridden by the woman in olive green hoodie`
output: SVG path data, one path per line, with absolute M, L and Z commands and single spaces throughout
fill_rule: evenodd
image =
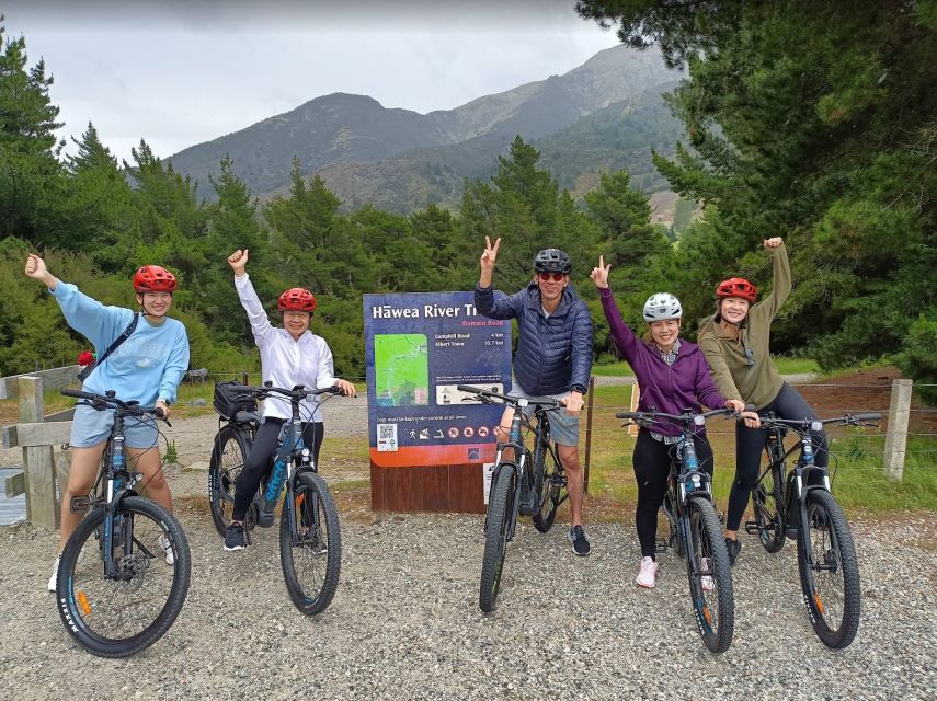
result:
M 825 490 L 807 495 L 807 532 L 798 535 L 797 560 L 813 630 L 824 645 L 846 647 L 859 630 L 859 565 L 843 509 Z

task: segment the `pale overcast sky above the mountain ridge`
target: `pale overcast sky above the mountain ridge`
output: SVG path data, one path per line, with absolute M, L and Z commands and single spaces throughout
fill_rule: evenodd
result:
M 453 4 L 455 7 L 448 7 Z M 132 5 L 132 7 L 127 7 Z M 449 110 L 618 44 L 574 0 L 7 0 L 5 38 L 46 61 L 61 137 L 160 157 L 333 92 Z

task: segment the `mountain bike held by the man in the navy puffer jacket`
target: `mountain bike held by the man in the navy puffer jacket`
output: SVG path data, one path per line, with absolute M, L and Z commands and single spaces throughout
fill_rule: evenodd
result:
M 485 613 L 494 610 L 498 593 L 501 588 L 501 574 L 507 543 L 514 538 L 517 515 L 532 516 L 540 532 L 549 530 L 553 524 L 559 505 L 565 501 L 560 492 L 567 480 L 557 456 L 556 447 L 550 443 L 550 428 L 547 414 L 565 409 L 558 400 L 537 400 L 530 402 L 519 397 L 499 394 L 468 384 L 459 384 L 462 392 L 475 395 L 484 403 L 500 403 L 514 407 L 511 420 L 511 433 L 507 443 L 499 443 L 494 457 L 494 471 L 491 474 L 491 487 L 488 497 L 488 512 L 484 519 L 484 555 L 481 563 L 478 605 Z M 524 416 L 523 409 L 536 404 L 530 418 Z M 527 466 L 530 451 L 524 445 L 522 427 L 535 435 L 534 466 Z M 514 450 L 513 460 L 504 460 L 505 448 Z

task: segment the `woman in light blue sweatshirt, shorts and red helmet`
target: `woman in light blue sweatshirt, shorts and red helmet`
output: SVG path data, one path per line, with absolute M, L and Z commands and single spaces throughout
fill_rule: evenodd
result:
M 68 325 L 94 345 L 100 358 L 129 326 L 136 312 L 119 307 L 105 307 L 62 283 L 48 272 L 45 262 L 30 254 L 25 273 L 42 281 L 61 307 Z M 188 336 L 185 326 L 165 314 L 172 304 L 175 277 L 158 265 L 145 265 L 134 275 L 134 290 L 140 306 L 140 319 L 130 336 L 98 365 L 84 380 L 82 389 L 103 394 L 114 390 L 117 399 L 137 401 L 141 406 L 158 406 L 168 417 L 170 405 L 182 376 L 188 368 Z M 81 514 L 72 514 L 71 497 L 87 496 L 98 476 L 104 446 L 111 435 L 114 411 L 98 411 L 79 403 L 71 425 L 71 471 L 61 494 L 61 531 L 59 556 Z M 152 421 L 127 417 L 124 422 L 125 451 L 142 474 L 146 496 L 172 510 L 172 495 L 160 469 L 159 433 Z M 163 543 L 165 560 L 173 562 L 172 548 Z M 55 591 L 59 558 L 56 558 L 48 582 Z

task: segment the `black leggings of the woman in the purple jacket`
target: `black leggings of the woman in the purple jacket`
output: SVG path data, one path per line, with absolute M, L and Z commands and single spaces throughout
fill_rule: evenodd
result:
M 712 448 L 706 436 L 694 436 L 699 469 L 712 476 Z M 667 476 L 671 473 L 670 450 L 672 445 L 654 440 L 651 432 L 638 432 L 632 461 L 635 479 L 638 481 L 638 508 L 635 509 L 635 526 L 641 543 L 641 556 L 653 558 L 658 538 L 658 509 L 667 493 Z

